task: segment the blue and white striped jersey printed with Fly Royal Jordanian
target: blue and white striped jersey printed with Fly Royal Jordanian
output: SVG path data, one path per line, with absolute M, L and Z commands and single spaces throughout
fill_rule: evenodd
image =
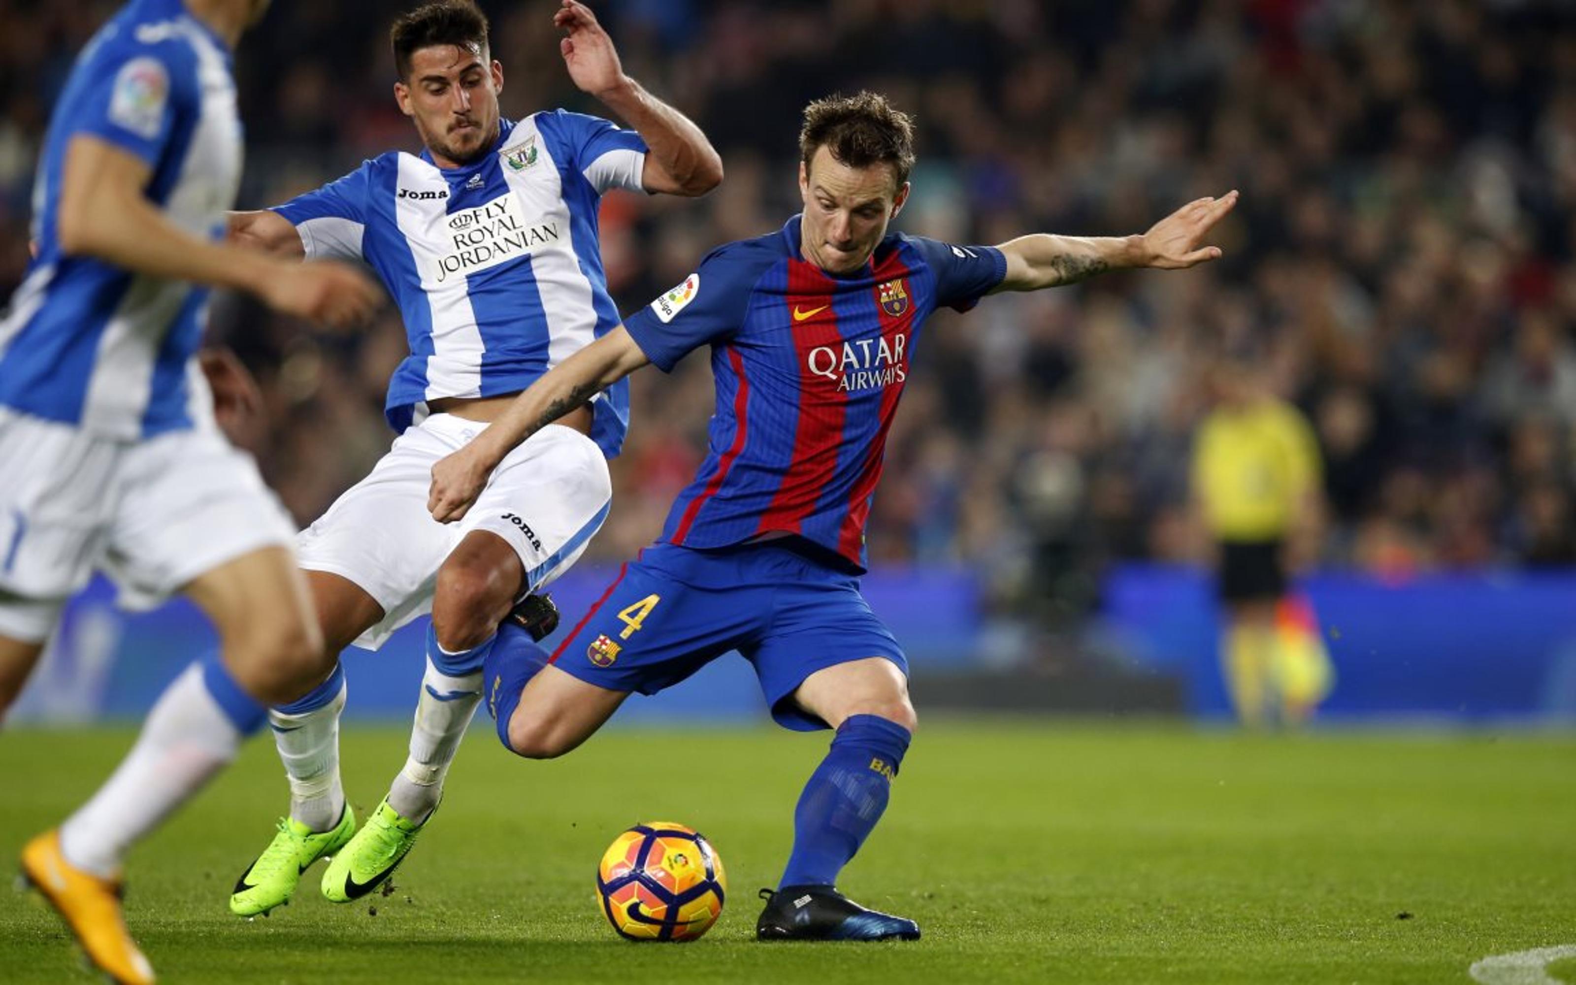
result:
M 405 430 L 438 397 L 493 397 L 618 325 L 597 241 L 610 188 L 640 191 L 646 143 L 564 110 L 500 121 L 481 159 L 444 169 L 391 151 L 277 206 L 307 257 L 366 260 L 399 304 L 410 356 L 385 407 Z M 611 457 L 629 424 L 629 385 L 593 405 Z

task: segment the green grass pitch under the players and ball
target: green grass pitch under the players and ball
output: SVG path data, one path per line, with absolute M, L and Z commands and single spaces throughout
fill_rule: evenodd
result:
M 389 895 L 317 890 L 232 917 L 284 777 L 266 738 L 131 857 L 128 919 L 164 982 L 1470 982 L 1478 958 L 1576 944 L 1576 736 L 1242 736 L 1179 725 L 927 722 L 843 887 L 917 944 L 752 939 L 826 736 L 610 730 L 526 763 L 485 719 Z M 14 856 L 106 775 L 129 730 L 0 733 Z M 347 723 L 377 804 L 402 728 Z M 638 820 L 703 831 L 730 901 L 693 944 L 627 944 L 593 905 Z M 1551 974 L 1576 982 L 1576 966 Z M 0 980 L 87 980 L 52 914 L 0 898 Z M 1530 980 L 1530 979 L 1529 979 Z

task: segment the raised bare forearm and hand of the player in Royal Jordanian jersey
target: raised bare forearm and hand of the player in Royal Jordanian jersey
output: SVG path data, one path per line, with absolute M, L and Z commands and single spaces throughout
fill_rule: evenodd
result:
M 613 39 L 585 3 L 563 0 L 553 24 L 569 77 L 618 113 L 646 142 L 641 184 L 648 192 L 704 195 L 722 183 L 722 158 L 684 113 L 624 74 Z

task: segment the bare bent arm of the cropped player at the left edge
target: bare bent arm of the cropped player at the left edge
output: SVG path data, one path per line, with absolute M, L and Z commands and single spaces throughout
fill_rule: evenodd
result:
M 60 183 L 60 249 L 151 277 L 233 287 L 334 326 L 377 307 L 377 287 L 348 266 L 285 263 L 186 232 L 143 197 L 150 177 L 142 158 L 102 137 L 72 137 Z

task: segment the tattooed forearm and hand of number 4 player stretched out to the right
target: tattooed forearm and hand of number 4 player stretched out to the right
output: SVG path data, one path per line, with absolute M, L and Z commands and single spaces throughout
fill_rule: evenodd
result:
M 1199 241 L 1236 203 L 1236 191 L 1220 199 L 1188 202 L 1141 236 L 1037 233 L 1009 240 L 998 247 L 1007 258 L 1007 276 L 996 290 L 1040 290 L 1076 284 L 1108 269 L 1135 266 L 1184 269 L 1215 260 L 1220 257 L 1220 247 L 1199 246 Z

